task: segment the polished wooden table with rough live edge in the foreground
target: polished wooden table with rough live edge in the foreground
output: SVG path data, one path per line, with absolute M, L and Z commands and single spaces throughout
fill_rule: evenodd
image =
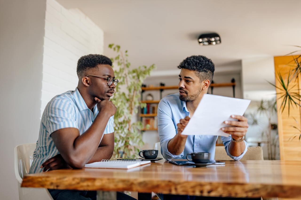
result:
M 22 187 L 126 190 L 216 197 L 301 197 L 301 161 L 225 161 L 225 163 L 205 168 L 191 168 L 157 161 L 130 170 L 88 168 L 55 170 L 26 175 Z M 110 195 L 114 192 L 98 194 Z

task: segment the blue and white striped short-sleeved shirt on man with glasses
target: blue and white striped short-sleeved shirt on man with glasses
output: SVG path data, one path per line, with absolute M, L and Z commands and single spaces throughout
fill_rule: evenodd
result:
M 97 114 L 97 105 L 94 106 L 92 112 L 77 88 L 52 98 L 42 115 L 39 139 L 33 153 L 33 163 L 29 173 L 42 172 L 40 168 L 42 163 L 59 154 L 51 138 L 51 133 L 62 128 L 72 127 L 77 128 L 82 134 L 92 125 Z M 113 123 L 114 116 L 110 117 L 104 134 L 114 132 Z

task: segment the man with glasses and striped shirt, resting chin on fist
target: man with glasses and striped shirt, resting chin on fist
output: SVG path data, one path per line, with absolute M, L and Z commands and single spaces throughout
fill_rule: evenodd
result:
M 76 89 L 55 96 L 44 110 L 29 173 L 81 169 L 113 155 L 116 107 L 109 99 L 118 80 L 112 61 L 104 55 L 85 55 L 79 58 L 76 72 Z M 49 192 L 54 200 L 96 199 L 96 191 Z M 117 192 L 117 199 L 134 198 Z

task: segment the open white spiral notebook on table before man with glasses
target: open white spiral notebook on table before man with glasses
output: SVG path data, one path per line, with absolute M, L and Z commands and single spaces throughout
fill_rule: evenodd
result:
M 143 164 L 151 163 L 151 161 L 125 161 L 125 160 L 102 160 L 101 162 L 94 162 L 85 164 L 86 168 L 111 168 L 111 169 L 131 169 Z

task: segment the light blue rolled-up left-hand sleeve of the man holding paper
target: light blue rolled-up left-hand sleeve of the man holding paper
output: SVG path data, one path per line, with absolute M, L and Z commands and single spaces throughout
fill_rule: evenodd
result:
M 177 134 L 175 123 L 172 120 L 172 110 L 168 102 L 161 100 L 157 111 L 158 132 L 161 145 L 161 153 L 166 160 L 171 160 L 176 157 L 183 157 L 184 153 L 180 155 L 172 155 L 168 149 L 168 142 Z

